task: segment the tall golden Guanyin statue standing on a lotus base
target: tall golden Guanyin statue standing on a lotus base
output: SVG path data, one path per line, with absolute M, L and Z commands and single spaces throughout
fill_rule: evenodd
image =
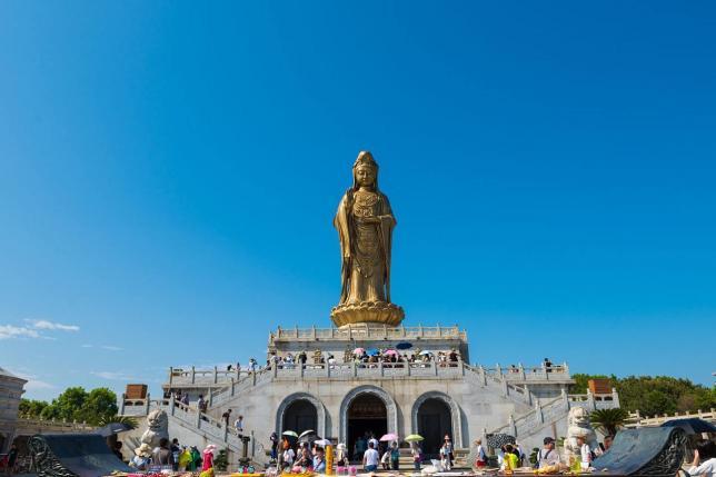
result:
M 330 317 L 339 326 L 398 326 L 402 308 L 390 302 L 390 249 L 396 219 L 378 189 L 378 165 L 368 151 L 354 163 L 354 185 L 334 219 L 340 239 L 340 302 Z

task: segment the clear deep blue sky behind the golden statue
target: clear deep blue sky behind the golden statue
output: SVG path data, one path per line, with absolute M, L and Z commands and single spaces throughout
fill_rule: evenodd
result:
M 715 57 L 706 1 L 4 1 L 0 366 L 156 389 L 328 326 L 369 149 L 406 324 L 710 384 Z

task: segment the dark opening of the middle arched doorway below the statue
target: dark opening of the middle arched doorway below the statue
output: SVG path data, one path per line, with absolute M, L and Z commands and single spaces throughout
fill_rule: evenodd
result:
M 386 404 L 375 394 L 362 392 L 350 403 L 347 413 L 348 453 L 351 460 L 362 459 L 360 448 L 367 449 L 367 441 L 356 451 L 356 441 L 360 438 L 375 436 L 380 439 L 388 433 L 388 409 Z

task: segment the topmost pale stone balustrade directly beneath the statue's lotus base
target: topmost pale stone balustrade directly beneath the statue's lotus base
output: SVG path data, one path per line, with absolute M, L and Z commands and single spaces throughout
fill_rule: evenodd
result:
M 346 328 L 281 328 L 271 332 L 271 340 L 345 340 L 345 339 L 464 339 L 467 332 L 457 326 L 368 327 L 356 325 Z

